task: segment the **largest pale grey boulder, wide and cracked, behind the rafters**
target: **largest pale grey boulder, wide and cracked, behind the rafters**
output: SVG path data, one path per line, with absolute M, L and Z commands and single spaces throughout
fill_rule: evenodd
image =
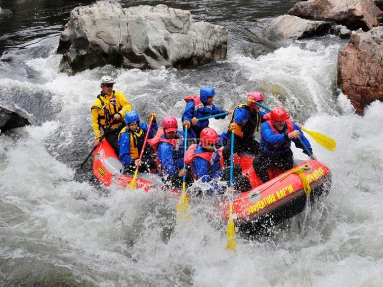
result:
M 227 34 L 222 26 L 194 22 L 189 11 L 166 5 L 123 9 L 98 1 L 71 12 L 57 52 L 68 74 L 106 64 L 170 68 L 225 59 Z

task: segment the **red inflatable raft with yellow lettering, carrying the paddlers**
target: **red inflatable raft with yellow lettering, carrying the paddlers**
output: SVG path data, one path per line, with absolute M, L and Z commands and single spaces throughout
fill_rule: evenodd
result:
M 244 232 L 256 232 L 291 218 L 302 212 L 307 202 L 315 202 L 330 190 L 330 170 L 319 161 L 301 161 L 281 174 L 277 170 L 269 171 L 272 179 L 263 184 L 255 174 L 252 157 L 234 155 L 234 162 L 242 166 L 243 174 L 253 186 L 253 189 L 233 197 L 234 222 Z M 116 184 L 129 189 L 133 176 L 122 173 L 122 167 L 113 148 L 103 139 L 93 154 L 94 176 L 105 186 Z M 135 188 L 149 191 L 152 187 L 162 187 L 160 177 L 153 173 L 139 173 Z M 228 219 L 228 202 L 224 199 L 216 205 L 224 220 Z

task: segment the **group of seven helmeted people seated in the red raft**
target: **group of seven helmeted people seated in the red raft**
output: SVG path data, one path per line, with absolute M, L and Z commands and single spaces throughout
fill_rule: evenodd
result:
M 167 116 L 159 131 L 156 114 L 150 114 L 149 129 L 147 124 L 140 122 L 138 113 L 131 110 L 124 93 L 113 90 L 115 83 L 109 76 L 100 79 L 101 93 L 91 107 L 94 145 L 101 144 L 104 134 L 119 156 L 124 172 L 132 173 L 139 166 L 139 172 L 157 170 L 164 184 L 170 188 L 181 189 L 185 176 L 187 186 L 200 180 L 209 183 L 207 194 L 223 193 L 227 185 L 219 183 L 230 179 L 232 132 L 234 153 L 254 156 L 253 167 L 262 182 L 269 180 L 268 168 L 286 171 L 294 166 L 290 148 L 292 141 L 303 153 L 315 158 L 309 141 L 282 107 L 276 107 L 268 114 L 259 110 L 260 106 L 255 102 L 262 103 L 264 97 L 261 92 L 248 93 L 245 103 L 226 112 L 213 104 L 214 88 L 204 85 L 199 96 L 185 98 L 186 107 L 181 119 L 184 129 L 178 129 L 175 117 Z M 231 115 L 228 130 L 221 134 L 209 127 L 209 119 L 198 120 L 214 115 L 217 115 L 215 119 L 224 119 L 227 114 Z M 254 138 L 255 132 L 260 132 L 259 142 Z M 145 145 L 140 159 L 147 133 L 150 144 Z M 185 137 L 188 146 L 186 154 Z M 217 152 L 221 147 L 225 167 L 221 166 Z M 233 165 L 232 175 L 235 191 L 245 192 L 253 188 L 246 175 L 242 175 L 239 164 Z

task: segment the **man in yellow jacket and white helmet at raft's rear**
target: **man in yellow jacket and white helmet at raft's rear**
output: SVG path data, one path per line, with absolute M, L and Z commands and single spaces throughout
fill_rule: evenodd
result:
M 102 132 L 113 147 L 116 155 L 119 155 L 118 135 L 125 126 L 123 122 L 125 114 L 131 110 L 131 105 L 124 93 L 113 90 L 116 82 L 109 76 L 100 79 L 101 93 L 97 96 L 91 107 L 93 131 L 95 136 L 94 145 L 101 143 Z

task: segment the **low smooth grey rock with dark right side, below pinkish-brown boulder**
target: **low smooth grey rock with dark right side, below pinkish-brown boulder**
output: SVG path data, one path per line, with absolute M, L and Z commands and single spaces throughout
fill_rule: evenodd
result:
M 310 21 L 292 15 L 279 16 L 263 29 L 263 36 L 269 39 L 299 40 L 327 34 L 331 22 Z

